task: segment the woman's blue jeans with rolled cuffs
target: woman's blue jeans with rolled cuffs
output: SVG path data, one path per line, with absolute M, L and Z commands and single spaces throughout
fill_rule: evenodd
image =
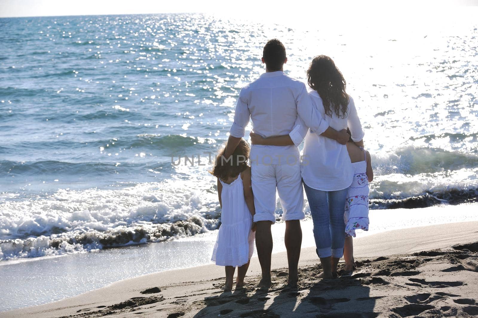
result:
M 344 255 L 344 211 L 347 188 L 338 191 L 321 191 L 308 187 L 304 183 L 304 189 L 314 223 L 317 255 L 320 258 L 342 257 Z

